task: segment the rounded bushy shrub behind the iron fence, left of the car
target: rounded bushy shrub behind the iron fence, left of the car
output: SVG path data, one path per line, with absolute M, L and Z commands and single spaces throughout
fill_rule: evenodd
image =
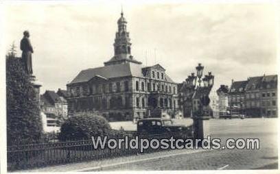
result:
M 91 136 L 108 136 L 111 128 L 108 121 L 97 114 L 71 116 L 60 127 L 60 140 L 80 140 Z

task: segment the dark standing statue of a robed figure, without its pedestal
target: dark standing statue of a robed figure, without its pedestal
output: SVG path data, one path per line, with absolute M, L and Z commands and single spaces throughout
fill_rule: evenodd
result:
M 21 58 L 25 66 L 25 71 L 28 75 L 32 75 L 32 53 L 33 48 L 30 43 L 30 34 L 28 31 L 23 32 L 23 39 L 21 39 L 21 50 L 23 51 Z

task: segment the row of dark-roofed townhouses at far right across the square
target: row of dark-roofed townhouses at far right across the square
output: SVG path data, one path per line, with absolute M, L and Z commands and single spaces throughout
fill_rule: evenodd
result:
M 231 83 L 229 106 L 252 117 L 277 117 L 277 75 L 248 77 Z

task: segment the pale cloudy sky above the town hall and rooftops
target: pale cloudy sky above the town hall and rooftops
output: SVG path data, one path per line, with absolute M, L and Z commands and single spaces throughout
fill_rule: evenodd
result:
M 183 82 L 200 62 L 215 84 L 277 74 L 276 8 L 269 3 L 122 3 L 132 55 Z M 5 51 L 29 30 L 36 79 L 66 89 L 83 69 L 113 57 L 121 3 L 6 3 Z

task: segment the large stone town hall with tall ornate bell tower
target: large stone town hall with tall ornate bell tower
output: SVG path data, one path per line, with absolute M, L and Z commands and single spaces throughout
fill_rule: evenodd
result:
M 143 67 L 132 56 L 123 12 L 117 25 L 113 58 L 67 84 L 69 116 L 95 112 L 108 121 L 182 116 L 177 84 L 160 64 Z

